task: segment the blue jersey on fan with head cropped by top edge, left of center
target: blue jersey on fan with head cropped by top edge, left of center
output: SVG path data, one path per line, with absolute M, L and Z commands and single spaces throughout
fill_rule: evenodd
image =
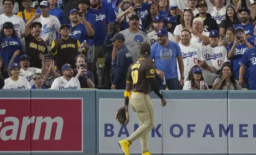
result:
M 101 0 L 102 9 L 106 13 L 107 22 L 114 23 L 116 21 L 116 14 L 114 13 L 114 9 L 112 8 L 112 0 Z

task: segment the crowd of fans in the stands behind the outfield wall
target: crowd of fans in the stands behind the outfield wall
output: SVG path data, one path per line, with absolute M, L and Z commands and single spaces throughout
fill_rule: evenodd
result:
M 256 90 L 254 0 L 0 0 L 0 24 L 0 89 L 125 89 L 148 43 L 161 90 Z

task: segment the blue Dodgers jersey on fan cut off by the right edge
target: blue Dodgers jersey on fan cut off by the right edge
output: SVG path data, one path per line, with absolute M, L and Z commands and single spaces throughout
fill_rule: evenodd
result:
M 248 89 L 256 90 L 256 49 L 253 47 L 245 52 L 239 64 L 248 68 Z

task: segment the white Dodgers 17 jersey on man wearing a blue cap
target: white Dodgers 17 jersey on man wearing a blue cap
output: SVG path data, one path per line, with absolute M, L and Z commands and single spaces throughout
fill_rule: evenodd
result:
M 213 66 L 216 70 L 220 70 L 225 62 L 229 62 L 227 57 L 227 49 L 225 46 L 218 45 L 217 47 L 211 47 L 211 45 L 204 46 L 202 48 L 202 56 L 208 66 Z M 217 74 L 211 73 L 207 69 L 203 69 L 204 82 L 207 85 L 213 85 L 213 81 L 216 79 Z

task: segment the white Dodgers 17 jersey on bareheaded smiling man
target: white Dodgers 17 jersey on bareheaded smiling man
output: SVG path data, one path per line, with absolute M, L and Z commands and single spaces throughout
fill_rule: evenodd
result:
M 183 46 L 182 44 L 179 44 L 182 54 L 182 60 L 184 64 L 184 75 L 185 77 L 184 82 L 188 80 L 188 73 L 190 69 L 198 64 L 198 60 L 204 61 L 204 58 L 202 57 L 202 53 L 200 49 L 193 44 L 190 44 L 189 46 Z M 177 62 L 177 72 L 178 72 L 178 79 L 180 79 L 180 69 Z

